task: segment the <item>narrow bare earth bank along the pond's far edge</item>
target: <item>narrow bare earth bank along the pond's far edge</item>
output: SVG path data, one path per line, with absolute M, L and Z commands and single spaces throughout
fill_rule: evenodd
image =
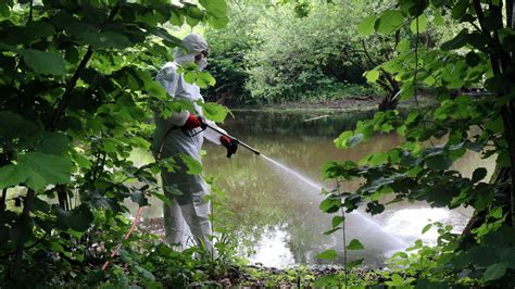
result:
M 229 106 L 231 111 L 321 111 L 321 112 L 366 112 L 377 111 L 382 98 L 379 97 L 348 97 L 336 100 L 324 101 L 290 101 L 281 103 L 262 104 L 262 105 L 235 105 Z M 419 106 L 429 106 L 437 103 L 436 97 L 420 96 L 418 97 Z M 417 101 L 414 99 L 401 101 L 398 109 L 415 109 Z

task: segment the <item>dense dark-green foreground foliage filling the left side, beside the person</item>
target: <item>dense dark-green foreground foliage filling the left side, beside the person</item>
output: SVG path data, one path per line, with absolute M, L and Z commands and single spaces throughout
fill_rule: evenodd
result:
M 167 28 L 226 25 L 224 1 L 199 3 L 0 3 L 1 287 L 102 280 L 100 262 L 128 229 L 124 201 L 166 201 L 159 164 L 137 167 L 128 156 L 149 149 L 153 110 L 188 109 L 153 74 L 180 43 Z M 194 67 L 184 67 L 188 79 L 214 83 Z M 203 105 L 215 121 L 226 114 Z

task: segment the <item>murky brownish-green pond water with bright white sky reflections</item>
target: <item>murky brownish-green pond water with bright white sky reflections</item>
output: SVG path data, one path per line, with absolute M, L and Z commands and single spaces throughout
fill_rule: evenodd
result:
M 397 135 L 378 135 L 355 148 L 336 149 L 332 140 L 359 120 L 370 116 L 369 113 L 334 114 L 310 122 L 304 120 L 316 117 L 316 113 L 236 112 L 235 116 L 224 125 L 230 134 L 318 184 L 324 162 L 357 161 L 402 141 Z M 322 262 L 315 255 L 326 249 L 341 251 L 341 231 L 330 236 L 322 234 L 330 228 L 332 216 L 318 210 L 323 196 L 317 189 L 243 148 L 230 160 L 225 158 L 222 147 L 206 143 L 204 149 L 208 151 L 203 159 L 205 173 L 216 176 L 218 186 L 229 196 L 229 210 L 236 214 L 227 222 L 237 224 L 235 234 L 253 246 L 251 259 L 254 262 L 268 266 L 314 264 Z M 490 168 L 492 164 L 467 154 L 456 163 L 456 169 L 470 175 L 479 165 Z M 359 180 L 343 184 L 346 190 L 355 189 L 357 185 Z M 155 204 L 147 210 L 147 217 L 161 216 L 161 205 Z M 216 213 L 218 209 L 214 210 Z M 468 214 L 466 210 L 429 209 L 422 203 L 395 203 L 384 214 L 372 217 L 376 224 L 351 214 L 346 222 L 348 240 L 360 239 L 366 250 L 351 251 L 349 257 L 364 257 L 366 264 L 380 264 L 386 254 L 417 238 L 434 242 L 436 233 L 420 236 L 428 218 L 461 230 Z M 336 262 L 341 262 L 341 256 Z

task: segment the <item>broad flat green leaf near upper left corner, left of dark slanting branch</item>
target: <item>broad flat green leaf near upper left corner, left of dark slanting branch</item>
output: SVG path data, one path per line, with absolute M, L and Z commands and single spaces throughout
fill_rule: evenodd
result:
M 26 49 L 20 52 L 23 61 L 37 74 L 66 75 L 66 66 L 63 58 L 53 53 L 35 49 Z

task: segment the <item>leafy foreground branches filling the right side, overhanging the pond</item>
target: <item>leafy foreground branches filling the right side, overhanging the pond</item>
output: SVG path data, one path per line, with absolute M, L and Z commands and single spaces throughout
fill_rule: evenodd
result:
M 402 0 L 393 8 L 366 18 L 362 34 L 392 34 L 403 25 L 414 27 L 414 46 L 375 71 L 385 70 L 402 81 L 401 99 L 415 98 L 422 86 L 438 92 L 438 108 L 418 108 L 402 116 L 397 111 L 377 113 L 343 131 L 338 148 L 357 146 L 372 134 L 395 131 L 405 141 L 386 152 L 375 152 L 359 163 L 325 165 L 324 176 L 341 183 L 364 181 L 356 191 L 328 192 L 321 209 L 330 213 L 353 211 L 365 204 L 372 214 L 391 202 L 426 201 L 432 206 L 472 206 L 476 210 L 463 236 L 441 229 L 441 251 L 420 249 L 399 254 L 401 271 L 415 278 L 401 278 L 417 287 L 506 286 L 513 287 L 515 225 L 514 127 L 514 24 L 513 1 L 416 1 Z M 441 15 L 463 29 L 439 47 L 419 41 L 419 33 L 441 23 Z M 482 93 L 464 93 L 470 89 Z M 482 95 L 482 96 L 481 96 Z M 470 177 L 452 164 L 467 151 L 495 158 L 492 180 L 477 167 Z M 335 230 L 341 222 L 334 222 Z M 349 249 L 349 248 L 348 248 Z M 436 253 L 436 254 L 435 254 Z M 411 261 L 414 257 L 414 261 Z M 399 284 L 400 285 L 400 284 Z

